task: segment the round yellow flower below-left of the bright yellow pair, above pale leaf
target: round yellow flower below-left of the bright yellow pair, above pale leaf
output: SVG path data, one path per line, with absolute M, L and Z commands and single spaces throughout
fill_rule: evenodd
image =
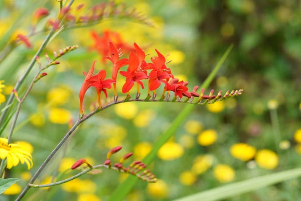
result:
M 218 164 L 213 168 L 214 177 L 221 183 L 227 183 L 235 178 L 235 171 L 226 164 Z

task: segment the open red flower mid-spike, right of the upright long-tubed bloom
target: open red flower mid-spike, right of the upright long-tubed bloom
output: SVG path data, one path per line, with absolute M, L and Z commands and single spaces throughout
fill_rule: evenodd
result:
M 143 83 L 140 80 L 146 79 L 147 75 L 142 71 L 138 71 L 138 67 L 139 58 L 134 52 L 131 52 L 129 54 L 127 71 L 120 71 L 120 74 L 126 77 L 125 84 L 122 87 L 122 93 L 128 92 L 133 87 L 134 82 L 140 84 L 142 89 L 144 88 Z

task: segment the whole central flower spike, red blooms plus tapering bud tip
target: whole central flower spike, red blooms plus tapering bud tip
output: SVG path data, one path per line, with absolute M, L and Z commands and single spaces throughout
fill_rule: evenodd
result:
M 83 114 L 83 100 L 86 91 L 91 86 L 96 88 L 98 96 L 98 105 L 101 108 L 101 92 L 104 92 L 105 97 L 107 98 L 107 89 L 114 88 L 114 102 L 117 102 L 117 89 L 116 89 L 116 80 L 118 72 L 125 77 L 125 83 L 122 87 L 122 93 L 127 93 L 126 98 L 123 102 L 127 101 L 166 101 L 166 102 L 182 102 L 182 103 L 193 103 L 193 99 L 198 97 L 197 102 L 193 104 L 213 104 L 216 101 L 223 100 L 228 97 L 240 95 L 242 89 L 233 90 L 232 92 L 228 91 L 224 96 L 222 96 L 221 91 L 217 95 L 213 95 L 214 90 L 211 90 L 209 95 L 204 95 L 204 89 L 201 90 L 201 94 L 197 92 L 198 86 L 194 86 L 193 90 L 189 92 L 187 87 L 188 81 L 179 80 L 174 77 L 170 68 L 167 67 L 167 64 L 170 61 L 166 61 L 166 57 L 161 54 L 157 49 L 157 56 L 150 58 L 151 63 L 145 61 L 147 56 L 145 52 L 136 44 L 133 44 L 133 48 L 128 58 L 119 59 L 123 54 L 121 53 L 121 48 L 118 49 L 116 46 L 108 41 L 107 37 L 101 38 L 103 40 L 95 41 L 97 48 L 103 50 L 108 49 L 110 56 L 104 56 L 105 59 L 108 59 L 112 62 L 112 76 L 110 79 L 106 79 L 106 71 L 100 70 L 97 75 L 94 75 L 95 63 L 94 61 L 92 67 L 88 73 L 84 72 L 85 79 L 83 85 L 80 89 L 79 99 L 80 99 L 80 114 Z M 122 44 L 122 43 L 118 43 Z M 98 46 L 97 46 L 98 45 Z M 122 66 L 128 65 L 127 71 L 119 71 Z M 140 87 L 144 89 L 142 80 L 148 80 L 148 93 L 145 99 L 139 99 L 140 96 Z M 132 89 L 134 84 L 137 85 L 137 93 L 135 99 L 130 100 L 129 91 Z M 156 99 L 158 89 L 161 85 L 164 84 L 163 94 L 160 99 Z M 150 91 L 153 91 L 153 95 L 150 95 Z M 171 91 L 174 92 L 174 97 L 170 100 Z M 167 96 L 165 95 L 167 92 Z M 187 97 L 185 100 L 181 98 Z M 205 100 L 201 102 L 201 100 Z

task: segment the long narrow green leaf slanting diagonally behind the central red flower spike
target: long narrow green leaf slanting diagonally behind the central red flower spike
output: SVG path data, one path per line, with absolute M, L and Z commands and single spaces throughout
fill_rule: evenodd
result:
M 219 62 L 216 64 L 214 69 L 211 71 L 209 76 L 205 79 L 203 84 L 200 88 L 207 88 L 211 81 L 213 80 L 214 76 L 216 75 L 217 71 L 221 67 L 224 60 L 227 58 L 228 54 L 230 53 L 231 49 L 233 48 L 233 45 L 230 45 L 230 47 L 227 49 L 227 51 L 224 53 L 222 58 L 219 60 Z M 162 145 L 164 145 L 177 131 L 177 129 L 181 126 L 182 122 L 185 121 L 186 117 L 191 113 L 193 110 L 194 105 L 187 105 L 183 111 L 176 117 L 171 127 L 162 135 L 160 135 L 158 141 L 154 144 L 152 151 L 143 159 L 143 162 L 146 165 L 149 165 L 152 163 L 152 161 L 155 159 L 158 150 L 161 148 Z M 109 201 L 122 201 L 124 197 L 127 195 L 127 193 L 134 187 L 135 183 L 138 181 L 137 177 L 129 176 L 123 183 L 121 183 L 117 189 L 112 193 L 112 195 L 109 198 Z

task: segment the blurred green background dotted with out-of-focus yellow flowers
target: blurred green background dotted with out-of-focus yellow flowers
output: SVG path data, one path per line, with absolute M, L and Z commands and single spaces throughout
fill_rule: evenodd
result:
M 25 5 L 32 2 L 0 1 L 0 38 L 18 19 Z M 211 88 L 224 92 L 244 90 L 236 98 L 195 107 L 150 166 L 159 181 L 152 184 L 139 181 L 126 200 L 172 200 L 301 165 L 299 1 L 116 2 L 136 8 L 154 22 L 155 28 L 113 19 L 93 27 L 63 31 L 50 42 L 45 50 L 50 55 L 70 45 L 77 44 L 79 49 L 59 59 L 60 65 L 49 68 L 48 76 L 34 86 L 24 103 L 13 141 L 32 153 L 34 167 L 28 171 L 19 165 L 9 171 L 7 176 L 22 181 L 0 195 L 1 200 L 13 200 L 20 193 L 68 131 L 70 121 L 77 119 L 82 71 L 87 72 L 92 62 L 98 60 L 96 69 L 110 72 L 111 65 L 101 62 L 103 56 L 91 48 L 91 31 L 100 36 L 106 30 L 116 32 L 124 43 L 136 42 L 150 56 L 155 55 L 155 48 L 164 55 L 170 53 L 168 60 L 172 62 L 168 66 L 175 77 L 189 80 L 191 88 L 205 80 L 226 49 L 234 44 L 206 92 Z M 76 0 L 74 5 L 84 4 L 81 11 L 84 15 L 95 3 Z M 31 9 L 38 7 L 50 9 L 51 17 L 55 17 L 59 4 L 55 0 L 43 1 L 33 4 Z M 28 11 L 28 17 L 22 19 L 15 34 L 30 32 L 31 15 L 32 11 Z M 6 98 L 2 97 L 1 102 L 8 98 L 45 36 L 42 33 L 30 38 L 32 49 L 20 45 L 0 63 L 0 80 L 5 80 L 6 85 L 1 92 Z M 119 78 L 117 90 L 121 93 L 124 80 L 120 75 Z M 30 81 L 30 78 L 26 80 L 25 88 Z M 134 95 L 135 91 L 131 92 Z M 113 92 L 109 91 L 108 101 L 112 97 Z M 95 91 L 89 89 L 85 97 L 86 111 L 93 110 L 96 102 Z M 103 163 L 108 150 L 118 145 L 123 149 L 114 155 L 116 160 L 127 152 L 133 152 L 136 160 L 142 159 L 184 107 L 178 103 L 126 103 L 97 114 L 80 126 L 37 183 L 49 183 L 53 175 L 61 175 L 80 158 L 94 165 Z M 8 131 L 9 127 L 4 136 Z M 59 187 L 30 190 L 25 200 L 106 200 L 126 177 L 103 169 L 97 175 L 84 175 Z M 228 200 L 297 200 L 300 195 L 300 180 L 292 179 Z

